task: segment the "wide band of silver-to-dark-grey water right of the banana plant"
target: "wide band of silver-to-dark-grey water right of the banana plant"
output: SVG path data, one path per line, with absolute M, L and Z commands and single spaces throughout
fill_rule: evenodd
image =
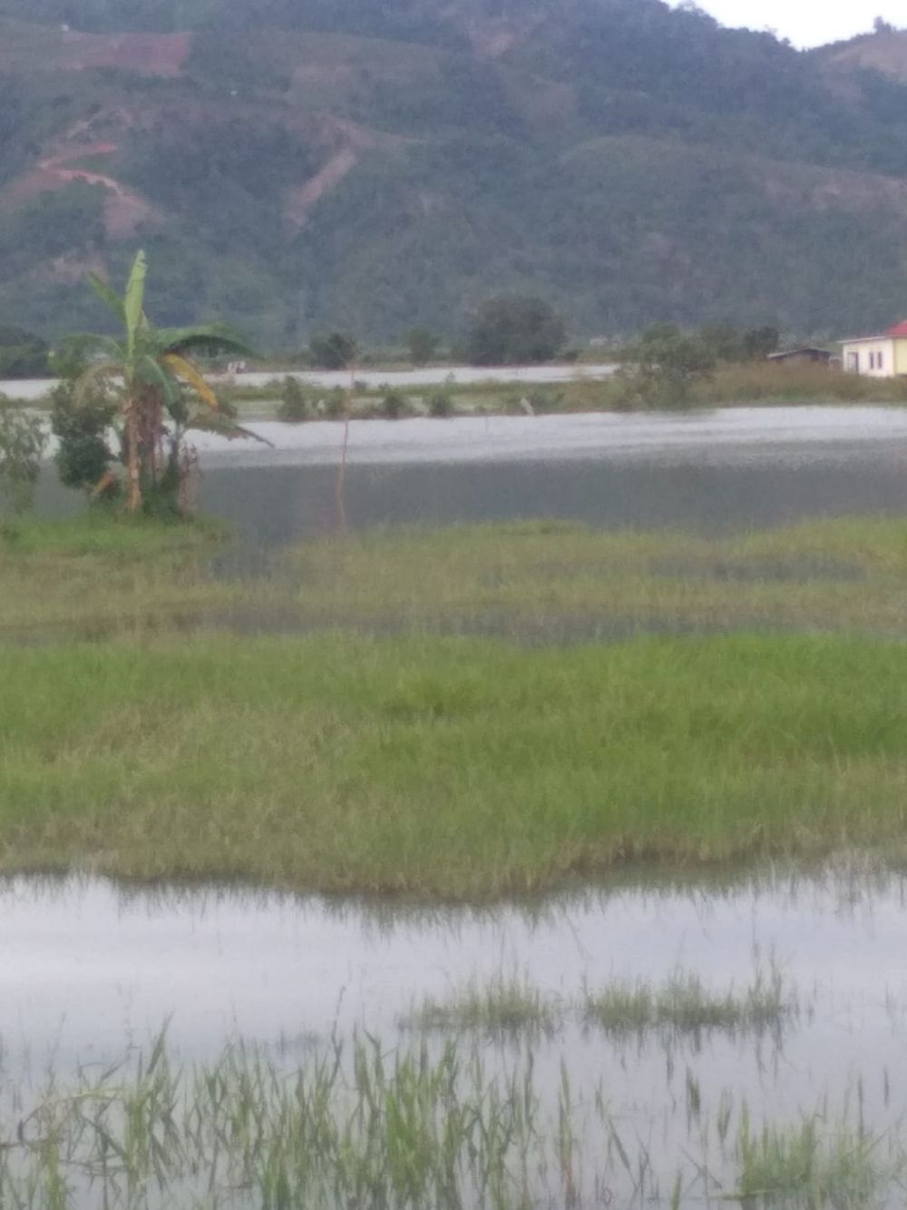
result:
M 337 525 L 339 424 L 201 434 L 202 506 L 265 546 Z M 907 409 L 730 408 L 684 415 L 354 421 L 352 526 L 559 518 L 746 528 L 907 512 Z

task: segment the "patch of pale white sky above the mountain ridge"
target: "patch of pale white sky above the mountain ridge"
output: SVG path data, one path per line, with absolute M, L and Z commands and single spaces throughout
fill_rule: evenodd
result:
M 698 0 L 722 25 L 774 29 L 795 46 L 820 46 L 872 29 L 873 17 L 907 25 L 906 0 Z

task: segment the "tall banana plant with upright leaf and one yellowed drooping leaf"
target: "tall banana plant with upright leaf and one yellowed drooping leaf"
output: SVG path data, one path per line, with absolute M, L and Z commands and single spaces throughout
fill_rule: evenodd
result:
M 187 428 L 253 436 L 223 411 L 213 387 L 191 361 L 192 350 L 200 346 L 244 357 L 254 356 L 252 350 L 223 324 L 156 328 L 145 315 L 146 277 L 144 252 L 135 257 L 122 296 L 89 275 L 92 289 L 120 322 L 122 335 L 76 338 L 82 347 L 104 355 L 104 361 L 81 375 L 76 398 L 102 381 L 117 393 L 129 512 L 141 507 L 145 494 L 158 486 L 164 474 L 179 479 Z

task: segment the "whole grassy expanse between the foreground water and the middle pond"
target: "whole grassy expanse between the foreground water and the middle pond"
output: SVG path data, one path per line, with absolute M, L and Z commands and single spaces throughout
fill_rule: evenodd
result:
M 146 588 L 168 610 L 185 592 L 189 612 L 238 592 L 180 559 L 174 570 L 154 528 L 145 540 L 123 582 L 119 530 L 106 555 L 99 535 L 74 554 L 75 531 L 67 553 L 51 543 L 41 558 L 45 538 L 7 548 L 18 605 L 5 607 L 25 621 L 73 583 L 92 616 L 111 583 L 127 616 Z M 669 552 L 680 564 L 659 570 Z M 288 569 L 250 601 L 295 609 L 302 636 L 140 626 L 138 639 L 6 644 L 2 868 L 464 898 L 628 862 L 894 851 L 907 837 L 899 522 L 716 543 L 559 526 L 379 535 L 310 547 Z M 641 629 L 676 615 L 756 618 L 763 633 L 545 641 L 565 618 L 607 630 L 634 610 Z M 489 611 L 497 638 L 435 633 Z M 897 638 L 851 633 L 879 628 Z

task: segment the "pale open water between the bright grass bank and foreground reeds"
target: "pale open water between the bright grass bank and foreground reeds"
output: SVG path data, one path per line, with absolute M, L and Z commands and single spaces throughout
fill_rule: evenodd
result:
M 164 1021 L 183 1060 L 242 1038 L 278 1064 L 349 1037 L 388 1051 L 426 996 L 521 980 L 558 1006 L 530 1039 L 542 1097 L 568 1073 L 577 1105 L 607 1097 L 624 1136 L 666 1181 L 697 1122 L 722 1100 L 796 1122 L 859 1090 L 861 1124 L 907 1113 L 907 878 L 848 868 L 729 886 L 614 885 L 489 909 L 369 905 L 268 893 L 122 891 L 105 881 L 0 886 L 0 1041 L 6 1074 L 40 1083 L 149 1045 Z M 780 972 L 796 1009 L 763 1033 L 703 1030 L 614 1038 L 578 1019 L 584 989 L 678 972 L 716 991 Z M 473 1035 L 490 1065 L 518 1038 Z M 698 1127 L 697 1127 L 698 1129 Z

